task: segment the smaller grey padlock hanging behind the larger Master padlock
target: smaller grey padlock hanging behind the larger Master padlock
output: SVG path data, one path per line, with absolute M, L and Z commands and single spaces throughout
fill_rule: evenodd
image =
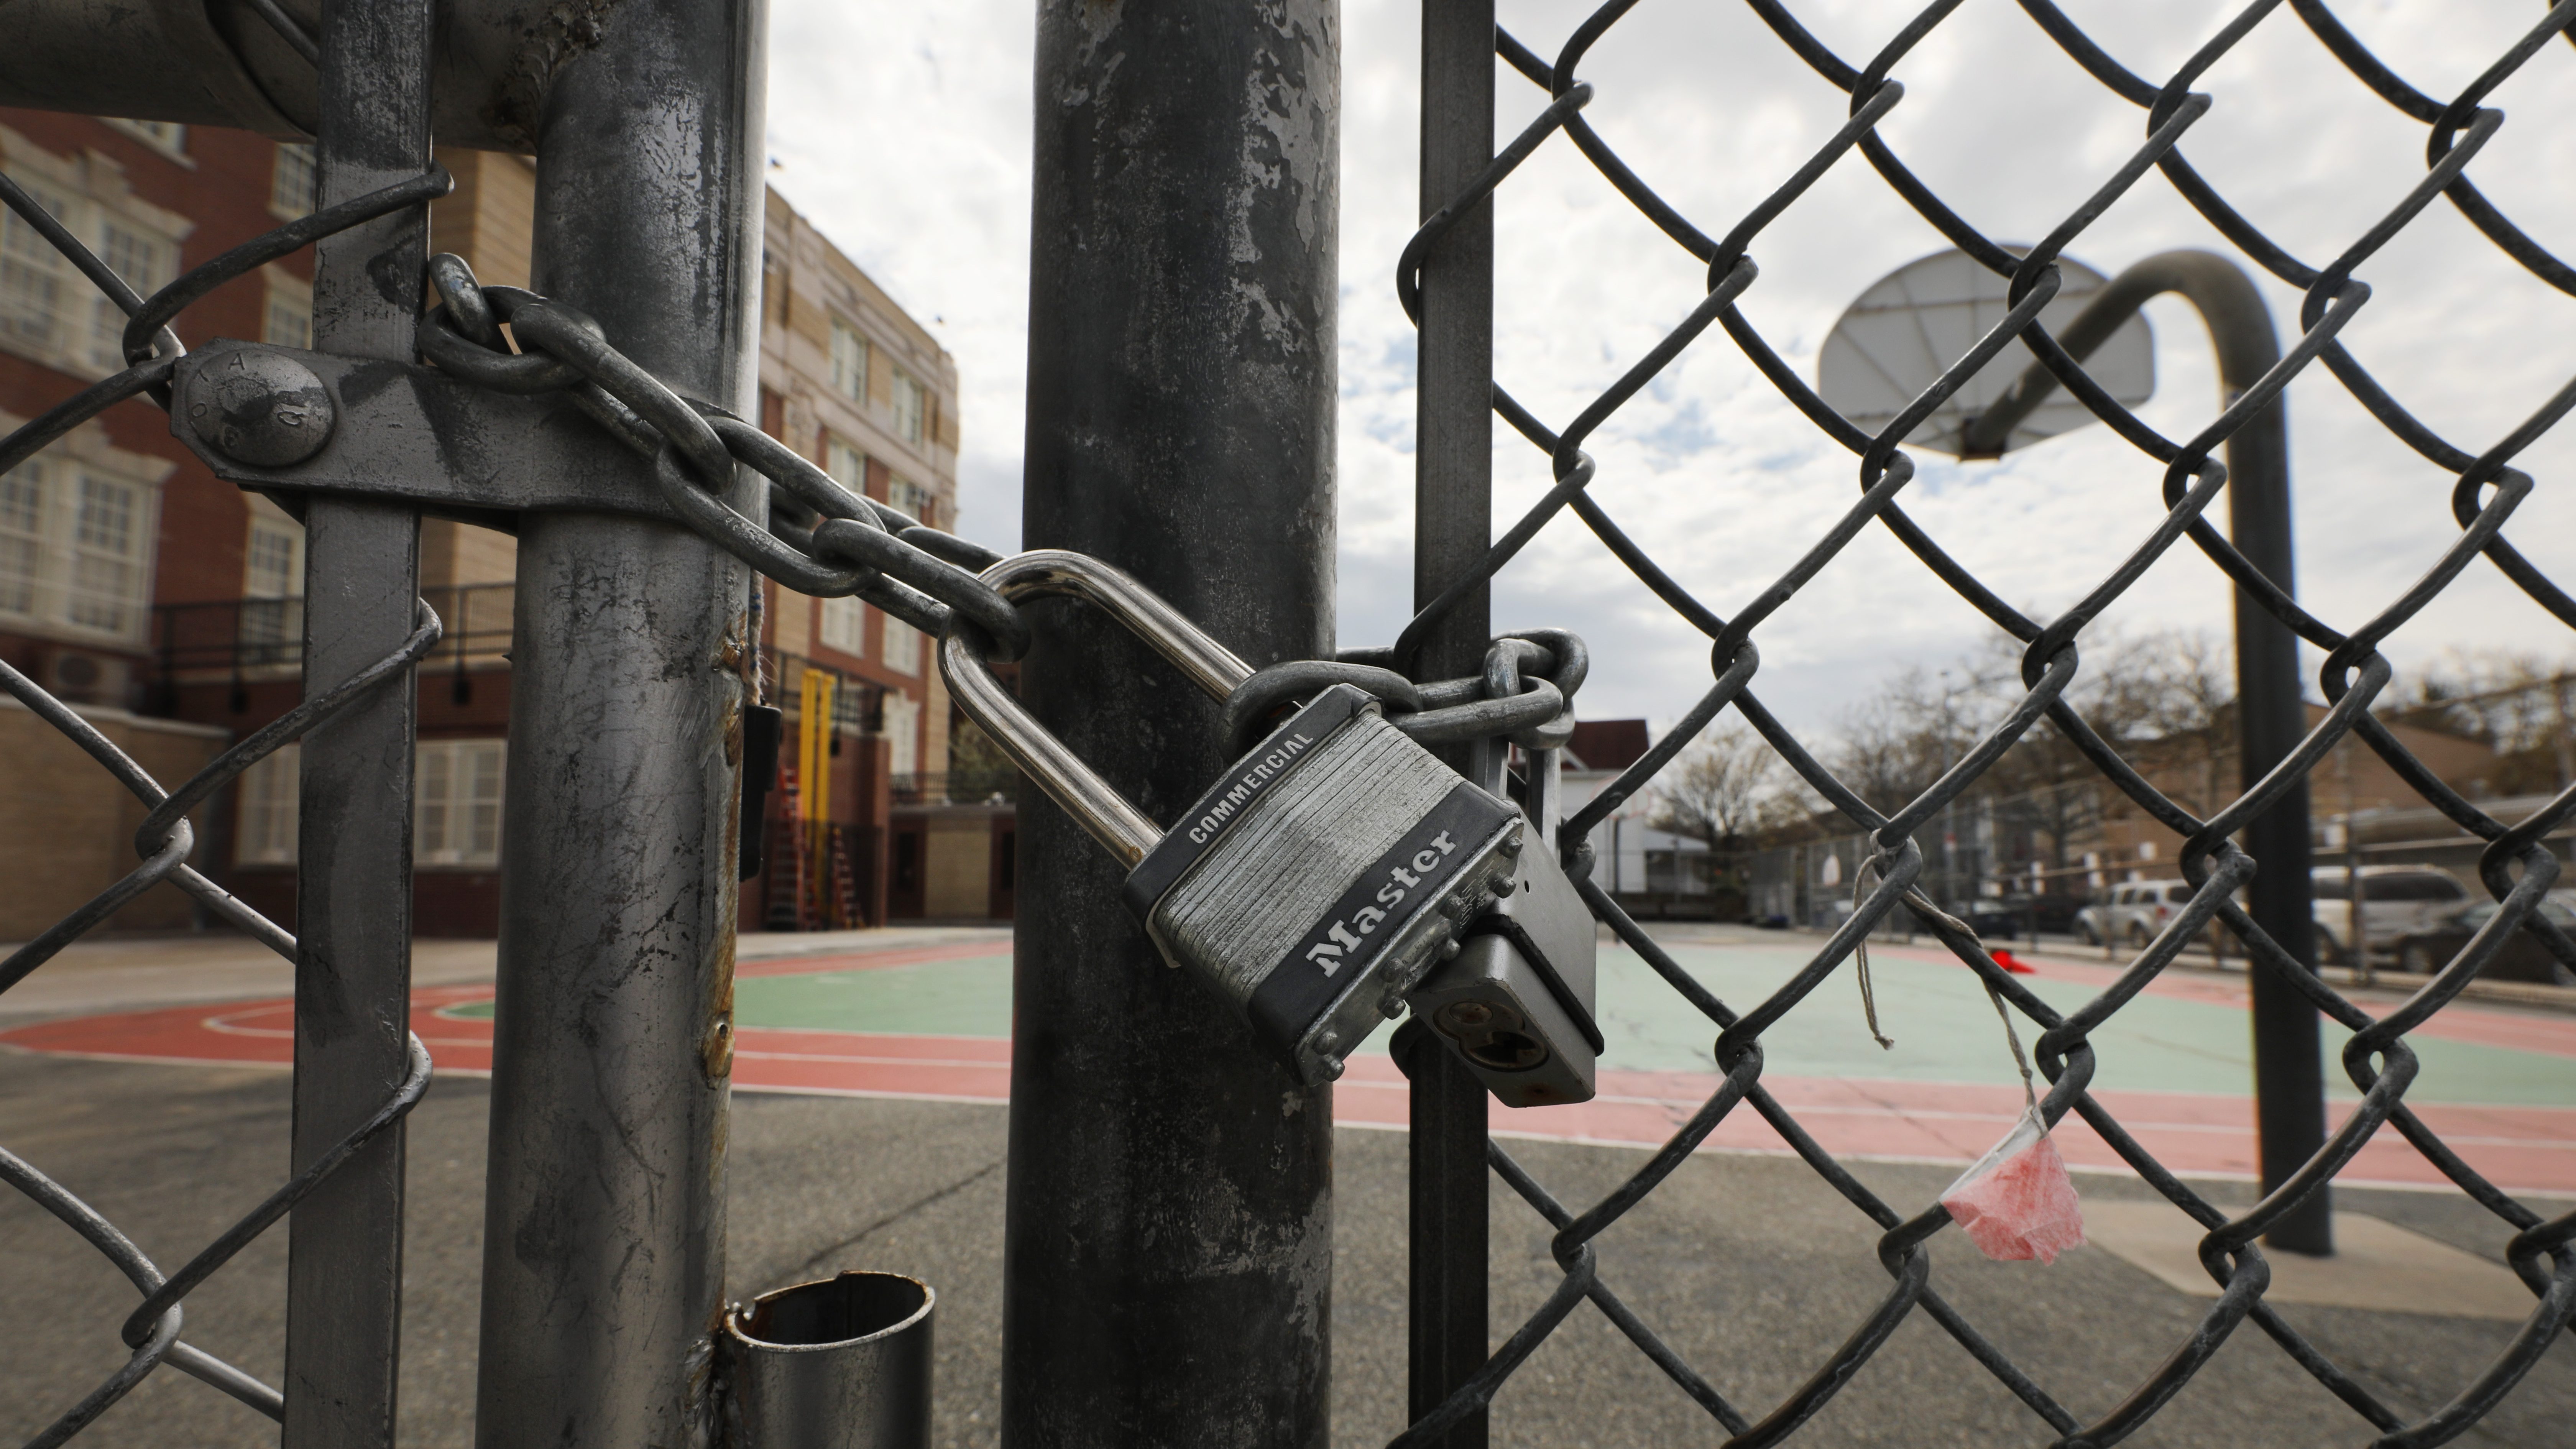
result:
M 1605 1047 L 1592 1018 L 1600 933 L 1584 897 L 1543 843 L 1520 884 L 1468 920 L 1458 954 L 1414 987 L 1414 1021 L 1504 1106 L 1592 1101 Z

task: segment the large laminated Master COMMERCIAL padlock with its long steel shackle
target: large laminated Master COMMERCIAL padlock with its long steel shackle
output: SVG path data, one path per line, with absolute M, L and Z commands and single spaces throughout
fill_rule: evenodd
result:
M 1133 578 L 1072 552 L 984 570 L 1005 598 L 1074 596 L 1133 629 L 1216 699 L 1252 678 Z M 1512 890 L 1522 820 L 1337 683 L 1298 709 L 1164 833 L 1020 709 L 971 639 L 940 645 L 948 688 L 1012 763 L 1128 866 L 1154 949 L 1224 995 L 1301 1080 L 1342 1075 L 1381 1016 Z

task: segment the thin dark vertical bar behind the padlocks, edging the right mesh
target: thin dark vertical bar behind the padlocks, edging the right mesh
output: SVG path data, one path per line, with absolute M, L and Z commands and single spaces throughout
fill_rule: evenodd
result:
M 1494 5 L 1422 3 L 1422 199 L 1435 211 L 1494 160 Z M 1484 562 L 1494 521 L 1494 204 L 1479 201 L 1422 255 L 1414 384 L 1414 608 Z M 1450 608 L 1414 660 L 1417 678 L 1484 668 L 1489 588 Z M 1466 763 L 1466 750 L 1450 750 Z M 1448 758 L 1448 755 L 1445 755 Z M 1499 781 L 1484 781 L 1499 784 Z M 1613 861 L 1615 864 L 1615 861 Z M 1486 1356 L 1484 1083 L 1430 1031 L 1406 1031 L 1412 1078 L 1412 1418 L 1435 1410 Z M 1468 1413 L 1440 1449 L 1484 1449 L 1486 1415 Z

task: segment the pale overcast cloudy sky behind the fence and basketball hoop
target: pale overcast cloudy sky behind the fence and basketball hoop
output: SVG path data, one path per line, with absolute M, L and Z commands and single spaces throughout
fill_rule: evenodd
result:
M 1862 64 L 1914 3 L 1793 0 Z M 2130 70 L 2161 77 L 2233 0 L 2063 0 Z M 1504 0 L 1504 26 L 1553 57 L 1589 5 Z M 2540 5 L 2344 0 L 2336 13 L 2401 75 L 2452 95 Z M 1352 0 L 1342 116 L 1340 637 L 1381 645 L 1409 593 L 1414 338 L 1394 297 L 1412 235 L 1417 3 Z M 961 531 L 1015 547 L 1028 312 L 1030 0 L 773 8 L 773 183 L 907 309 L 963 374 Z M 1718 235 L 1842 121 L 1847 98 L 1741 5 L 1649 0 L 1582 64 L 1587 116 L 1703 232 Z M 2030 242 L 2143 137 L 2143 111 L 2076 70 L 2009 0 L 1968 0 L 1899 67 L 1906 101 L 1880 134 L 1989 237 Z M 2370 95 L 2282 5 L 2197 90 L 2215 106 L 2184 155 L 2275 240 L 2324 266 L 2424 168 L 2424 129 Z M 1546 95 L 1502 75 L 1510 137 Z M 2576 255 L 2576 49 L 2548 46 L 2488 106 L 2506 124 L 2470 175 L 2524 232 Z M 1638 217 L 1582 155 L 1551 139 L 1499 196 L 1497 376 L 1551 425 L 1574 418 L 1682 320 L 1705 268 Z M 1857 152 L 1752 248 L 1744 312 L 1814 382 L 1839 312 L 1883 273 L 1942 250 Z M 2169 248 L 2231 250 L 2159 175 L 2069 255 L 2115 273 Z M 2375 297 L 2347 345 L 2419 418 L 2483 449 L 2576 374 L 2576 299 L 2506 260 L 2437 201 L 2362 266 Z M 2264 281 L 2290 345 L 2298 294 Z M 2143 415 L 2187 436 L 2215 413 L 2208 340 L 2179 302 L 2148 307 L 2159 392 Z M 2450 477 L 2424 464 L 2313 369 L 2290 392 L 2298 590 L 2352 627 L 2458 536 Z M 1592 492 L 1718 611 L 1734 611 L 1850 505 L 1857 459 L 1819 436 L 1726 340 L 1703 335 L 1595 436 Z M 2002 464 L 1919 456 L 1906 511 L 1996 593 L 2053 614 L 2161 516 L 2161 464 L 2084 428 Z M 2522 454 L 2537 490 L 2506 534 L 2576 580 L 2576 423 Z M 1546 456 L 1497 423 L 1497 531 L 1548 487 Z M 2226 518 L 2226 500 L 2213 505 Z M 1587 717 L 1669 722 L 1708 683 L 1705 642 L 1631 580 L 1566 513 L 1504 572 L 1497 627 L 1564 624 L 1595 650 Z M 2187 544 L 2110 614 L 2120 627 L 2223 629 L 2228 593 Z M 1906 663 L 1940 665 L 1991 624 L 1883 529 L 1757 634 L 1757 691 L 1798 727 L 1834 717 Z M 2391 642 L 2401 668 L 2452 647 L 2568 655 L 2566 632 L 2478 562 Z M 2311 663 L 2313 691 L 2313 663 Z

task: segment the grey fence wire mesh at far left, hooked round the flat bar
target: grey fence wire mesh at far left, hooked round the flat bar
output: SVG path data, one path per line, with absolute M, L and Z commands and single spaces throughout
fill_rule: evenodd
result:
M 108 407 L 129 397 L 149 397 L 152 402 L 170 405 L 170 374 L 178 366 L 185 348 L 180 348 L 178 335 L 170 330 L 170 320 L 178 317 L 188 304 L 204 299 L 216 286 L 247 276 L 260 266 L 296 253 L 319 237 L 330 237 L 348 227 L 371 222 L 376 217 L 399 211 L 404 206 L 420 206 L 435 196 L 446 196 L 453 180 L 446 170 L 430 168 L 420 178 L 386 186 L 368 196 L 343 201 L 289 222 L 273 232 L 265 232 L 229 253 L 183 273 L 170 286 L 155 291 L 152 297 L 137 297 L 134 289 L 116 276 L 90 248 L 85 248 L 70 229 L 64 229 L 33 196 L 18 188 L 8 175 L 0 175 L 0 204 L 8 204 L 28 227 L 33 227 L 54 250 L 59 250 L 72 266 L 80 268 L 100 294 L 108 297 L 124 315 L 124 371 L 95 382 L 44 415 L 28 420 L 26 425 L 10 431 L 0 438 L 0 472 L 18 467 L 21 462 L 36 456 L 39 449 L 62 438 L 72 428 L 98 418 Z M 134 853 L 142 859 L 139 866 L 126 871 L 124 879 L 98 892 L 80 910 L 64 915 L 46 931 L 41 931 L 26 946 L 18 946 L 5 962 L 0 962 L 0 993 L 15 987 L 36 967 L 54 959 L 64 946 L 77 941 L 82 933 L 98 928 L 118 908 L 139 897 L 157 882 L 170 882 L 188 892 L 206 910 L 222 920 L 240 928 L 245 936 L 265 944 L 289 962 L 296 959 L 296 938 L 268 920 L 247 902 L 214 884 L 188 856 L 196 851 L 196 828 L 188 822 L 188 812 L 214 799 L 219 789 L 242 776 L 250 766 L 276 755 L 276 750 L 291 740 L 299 740 L 312 727 L 343 714 L 345 709 L 361 704 L 381 688 L 407 688 L 412 678 L 412 665 L 428 655 L 440 637 L 438 614 L 420 601 L 417 627 L 402 642 L 399 650 L 384 655 L 368 668 L 358 670 L 348 681 L 309 696 L 304 704 L 289 709 L 268 727 L 252 732 L 242 743 L 232 745 L 216 755 L 206 768 L 188 776 L 178 789 L 162 789 L 131 755 L 116 748 L 95 724 L 90 724 L 77 709 L 57 699 L 52 691 L 26 678 L 15 668 L 0 663 L 0 691 L 8 691 L 31 714 L 59 730 L 70 743 L 88 753 L 103 771 L 108 771 L 116 784 L 131 792 L 147 810 L 142 828 L 134 833 Z M 312 1194 L 322 1181 L 327 1181 L 350 1155 L 366 1142 L 379 1137 L 394 1122 L 402 1122 L 420 1096 L 430 1085 L 430 1055 L 420 1044 L 420 1036 L 410 1036 L 410 1070 L 402 1083 L 361 1122 L 348 1137 L 335 1147 L 296 1171 L 283 1186 L 278 1186 L 268 1199 L 252 1209 L 247 1217 L 234 1222 L 214 1243 L 198 1250 L 175 1274 L 162 1274 L 162 1269 L 134 1245 L 113 1222 L 108 1222 L 98 1209 L 80 1201 L 70 1189 L 49 1178 L 39 1165 L 18 1158 L 15 1152 L 0 1147 L 0 1181 L 26 1194 L 36 1207 L 52 1212 L 64 1227 L 77 1232 L 90 1248 L 95 1248 L 108 1263 L 116 1266 L 142 1294 L 142 1302 L 121 1325 L 118 1336 L 126 1348 L 126 1361 L 111 1372 L 98 1387 L 82 1395 L 77 1403 L 64 1408 L 54 1423 L 49 1423 L 28 1449 L 49 1449 L 80 1434 L 100 1413 L 106 1413 L 116 1400 L 134 1390 L 144 1377 L 149 1377 L 162 1364 L 180 1369 L 216 1390 L 247 1403 L 250 1408 L 265 1413 L 268 1418 L 286 1415 L 286 1397 L 260 1382 L 258 1377 L 206 1354 L 180 1338 L 183 1325 L 183 1299 L 196 1292 L 206 1279 L 222 1271 L 242 1248 L 247 1248 L 260 1232 L 273 1227 L 296 1201 Z

